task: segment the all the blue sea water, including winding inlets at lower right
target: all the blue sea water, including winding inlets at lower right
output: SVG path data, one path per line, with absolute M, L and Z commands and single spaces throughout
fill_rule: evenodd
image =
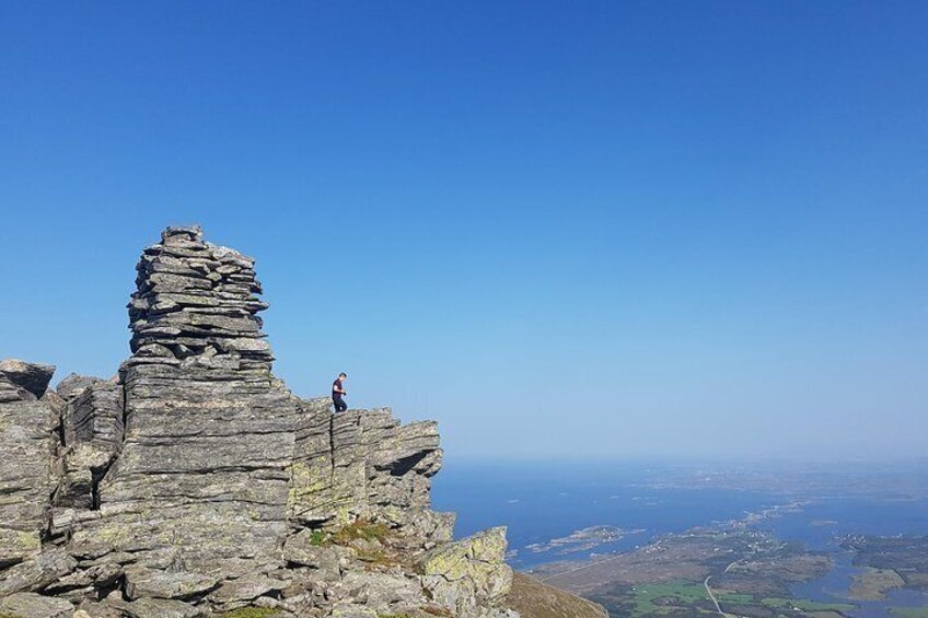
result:
M 561 560 L 582 560 L 598 553 L 627 551 L 668 533 L 743 520 L 776 505 L 802 500 L 798 510 L 778 510 L 756 523 L 782 540 L 799 540 L 810 549 L 827 551 L 835 568 L 820 580 L 797 585 L 793 594 L 827 603 L 847 603 L 850 578 L 859 570 L 852 556 L 840 549 L 849 534 L 928 535 L 928 500 L 885 497 L 826 497 L 807 488 L 779 486 L 776 490 L 680 487 L 660 479 L 678 478 L 678 466 L 647 464 L 456 463 L 437 477 L 432 492 L 437 510 L 459 514 L 456 535 L 509 527 L 510 563 L 521 570 Z M 620 540 L 592 549 L 544 547 L 575 530 L 608 525 L 627 530 Z M 541 550 L 538 545 L 543 547 Z M 532 547 L 536 550 L 533 550 Z M 576 549 L 576 550 L 573 550 Z M 886 616 L 888 608 L 921 607 L 928 595 L 895 591 L 883 602 L 857 603 L 852 616 Z

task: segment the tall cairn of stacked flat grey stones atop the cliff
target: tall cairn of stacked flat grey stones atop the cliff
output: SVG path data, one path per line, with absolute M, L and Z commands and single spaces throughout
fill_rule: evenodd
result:
M 182 363 L 270 371 L 257 313 L 255 260 L 204 242 L 199 226 L 169 228 L 144 249 L 129 303 L 129 364 Z

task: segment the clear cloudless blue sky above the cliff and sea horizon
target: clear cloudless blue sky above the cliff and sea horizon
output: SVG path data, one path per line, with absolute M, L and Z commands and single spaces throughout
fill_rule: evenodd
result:
M 167 224 L 456 457 L 928 442 L 928 2 L 0 2 L 0 357 L 111 375 Z

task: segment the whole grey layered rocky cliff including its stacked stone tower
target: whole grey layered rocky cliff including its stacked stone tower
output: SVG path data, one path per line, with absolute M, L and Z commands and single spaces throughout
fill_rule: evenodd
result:
M 115 377 L 0 362 L 0 616 L 532 618 L 506 530 L 430 509 L 433 422 L 274 377 L 252 258 L 171 228 L 137 271 Z

